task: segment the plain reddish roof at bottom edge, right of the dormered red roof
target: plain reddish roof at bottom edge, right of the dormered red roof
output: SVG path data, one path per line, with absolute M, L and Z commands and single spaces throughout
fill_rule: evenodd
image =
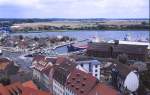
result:
M 117 90 L 104 83 L 98 83 L 88 95 L 121 95 Z

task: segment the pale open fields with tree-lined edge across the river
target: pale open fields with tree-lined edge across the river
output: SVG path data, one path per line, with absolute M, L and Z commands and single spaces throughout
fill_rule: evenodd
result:
M 149 30 L 149 21 L 146 20 L 84 20 L 84 21 L 49 21 L 17 23 L 11 26 L 12 31 L 49 31 L 63 32 L 70 30 Z

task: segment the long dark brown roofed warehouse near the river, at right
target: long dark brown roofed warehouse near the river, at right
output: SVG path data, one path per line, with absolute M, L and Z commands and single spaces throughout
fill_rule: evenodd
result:
M 87 55 L 100 58 L 117 58 L 120 54 L 128 55 L 129 60 L 144 61 L 147 45 L 118 43 L 88 43 Z

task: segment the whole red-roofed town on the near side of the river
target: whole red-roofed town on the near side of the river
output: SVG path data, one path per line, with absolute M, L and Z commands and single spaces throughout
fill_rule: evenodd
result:
M 0 35 L 0 95 L 150 94 L 148 42 Z

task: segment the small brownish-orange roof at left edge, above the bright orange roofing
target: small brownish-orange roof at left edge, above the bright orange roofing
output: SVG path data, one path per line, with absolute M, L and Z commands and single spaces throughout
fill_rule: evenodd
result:
M 0 58 L 0 70 L 5 70 L 10 64 L 13 64 L 13 61 L 8 58 Z

